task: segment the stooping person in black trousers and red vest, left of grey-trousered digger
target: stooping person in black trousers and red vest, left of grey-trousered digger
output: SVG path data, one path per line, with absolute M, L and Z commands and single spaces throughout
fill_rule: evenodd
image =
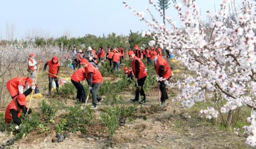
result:
M 81 59 L 80 64 L 88 63 L 87 59 Z M 85 80 L 85 70 L 84 67 L 78 69 L 75 71 L 71 76 L 71 82 L 74 84 L 74 86 L 77 89 L 76 92 L 76 100 L 78 102 L 85 102 L 85 93 L 84 93 L 84 86 L 82 85 L 82 81 Z

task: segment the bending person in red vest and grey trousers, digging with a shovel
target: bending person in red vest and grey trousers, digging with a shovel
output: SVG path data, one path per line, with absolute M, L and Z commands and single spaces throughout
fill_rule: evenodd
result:
M 100 71 L 93 67 L 92 64 L 84 61 L 81 65 L 85 70 L 84 75 L 89 84 L 90 93 L 92 94 L 92 109 L 96 109 L 97 103 L 103 101 L 103 98 L 98 95 L 98 90 L 102 84 L 103 77 L 100 74 Z

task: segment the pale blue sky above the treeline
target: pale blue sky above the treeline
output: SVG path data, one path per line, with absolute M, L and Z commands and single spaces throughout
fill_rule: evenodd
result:
M 6 24 L 14 24 L 14 38 L 24 38 L 32 30 L 48 37 L 59 37 L 70 33 L 71 37 L 115 32 L 128 35 L 132 31 L 146 31 L 147 26 L 130 10 L 124 8 L 124 0 L 2 0 L 0 9 L 0 39 L 6 39 Z M 179 0 L 178 0 L 179 1 Z M 206 11 L 214 13 L 220 8 L 222 0 L 196 0 L 201 8 L 202 20 L 206 20 Z M 236 0 L 240 1 L 240 0 Z M 148 0 L 126 0 L 128 5 L 138 12 L 148 7 L 162 22 L 159 14 L 148 4 Z M 153 0 L 154 3 L 157 0 Z M 172 2 L 172 0 L 170 0 Z M 166 10 L 166 16 L 178 22 L 178 15 L 172 4 Z M 31 34 L 30 34 L 31 35 Z

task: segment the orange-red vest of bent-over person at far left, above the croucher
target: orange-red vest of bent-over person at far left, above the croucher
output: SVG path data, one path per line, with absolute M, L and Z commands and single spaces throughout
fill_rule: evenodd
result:
M 24 88 L 26 87 L 26 77 L 20 76 L 16 78 L 12 78 L 6 83 L 6 87 L 8 91 L 10 92 L 11 96 L 15 96 L 19 93 L 18 86 L 22 85 Z

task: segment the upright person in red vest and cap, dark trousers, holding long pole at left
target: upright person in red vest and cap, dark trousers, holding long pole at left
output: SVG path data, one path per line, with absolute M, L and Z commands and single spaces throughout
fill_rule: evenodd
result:
M 58 62 L 58 57 L 53 56 L 51 60 L 49 60 L 47 63 L 45 63 L 44 71 L 46 71 L 47 65 L 49 66 L 48 73 L 51 73 L 51 74 L 48 74 L 48 79 L 49 79 L 48 96 L 51 96 L 52 95 L 52 80 L 55 81 L 57 90 L 59 89 L 58 78 L 56 77 L 56 76 L 59 76 L 59 74 L 60 74 L 60 63 Z M 52 74 L 54 74 L 56 76 L 53 76 Z

